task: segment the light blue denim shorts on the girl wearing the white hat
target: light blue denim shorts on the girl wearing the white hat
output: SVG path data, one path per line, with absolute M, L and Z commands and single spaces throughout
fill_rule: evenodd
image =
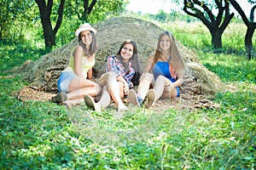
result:
M 59 92 L 65 92 L 68 93 L 68 85 L 73 80 L 73 78 L 76 77 L 75 73 L 73 71 L 64 71 L 61 72 L 61 76 L 58 80 L 58 91 Z

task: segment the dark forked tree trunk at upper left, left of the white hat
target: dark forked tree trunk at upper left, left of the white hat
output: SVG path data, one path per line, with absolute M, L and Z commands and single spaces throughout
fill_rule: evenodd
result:
M 44 30 L 45 48 L 52 48 L 52 46 L 56 44 L 55 36 L 61 26 L 65 0 L 61 0 L 61 3 L 59 4 L 59 9 L 57 14 L 58 17 L 57 17 L 54 29 L 50 20 L 50 15 L 52 14 L 52 8 L 53 8 L 53 0 L 48 0 L 47 4 L 45 0 L 35 0 L 35 1 L 36 3 L 38 3 L 41 23 Z

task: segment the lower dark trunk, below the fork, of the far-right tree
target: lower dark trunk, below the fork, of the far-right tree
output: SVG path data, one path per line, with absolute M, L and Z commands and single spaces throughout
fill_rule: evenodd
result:
M 251 26 L 247 27 L 247 33 L 246 33 L 246 37 L 245 37 L 245 46 L 246 46 L 246 50 L 247 50 L 247 59 L 252 59 L 254 58 L 254 49 L 253 49 L 253 33 L 254 33 L 254 28 L 252 28 Z

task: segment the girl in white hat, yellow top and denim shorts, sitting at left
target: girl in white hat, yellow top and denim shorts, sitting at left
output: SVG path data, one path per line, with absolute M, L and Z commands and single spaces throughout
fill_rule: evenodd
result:
M 74 48 L 67 68 L 61 72 L 57 84 L 59 93 L 51 99 L 67 106 L 83 102 L 85 94 L 102 93 L 101 86 L 90 81 L 96 63 L 96 29 L 85 23 L 75 31 L 75 36 L 79 37 L 79 45 Z

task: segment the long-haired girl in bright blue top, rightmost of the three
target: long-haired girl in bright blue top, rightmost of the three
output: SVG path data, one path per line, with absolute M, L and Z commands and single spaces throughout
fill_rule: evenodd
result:
M 183 56 L 177 48 L 176 39 L 170 31 L 160 34 L 154 54 L 150 54 L 141 77 L 137 94 L 130 90 L 128 99 L 134 105 L 145 101 L 146 108 L 157 99 L 170 99 L 179 96 L 179 86 L 183 83 L 183 73 L 186 70 Z M 150 87 L 153 87 L 150 89 Z

